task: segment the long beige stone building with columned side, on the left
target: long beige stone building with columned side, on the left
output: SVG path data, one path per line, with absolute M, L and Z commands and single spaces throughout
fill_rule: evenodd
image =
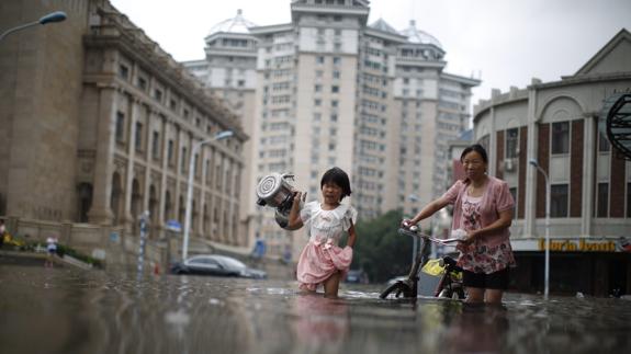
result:
M 2 214 L 124 226 L 148 210 L 151 237 L 183 225 L 195 161 L 192 236 L 245 244 L 238 210 L 247 135 L 211 94 L 106 0 L 1 5 L 9 27 L 63 10 L 68 20 L 22 31 L 0 47 Z M 195 141 L 222 130 L 226 140 Z

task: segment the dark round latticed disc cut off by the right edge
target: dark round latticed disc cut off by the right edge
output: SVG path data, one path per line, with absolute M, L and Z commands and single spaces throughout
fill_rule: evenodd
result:
M 609 109 L 606 133 L 622 158 L 631 160 L 631 94 L 621 94 Z

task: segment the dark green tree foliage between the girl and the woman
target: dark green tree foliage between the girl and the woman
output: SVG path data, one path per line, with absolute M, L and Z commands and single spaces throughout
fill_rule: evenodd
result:
M 399 210 L 356 226 L 357 241 L 351 269 L 363 269 L 371 283 L 407 275 L 412 262 L 413 240 L 397 233 L 403 219 Z

